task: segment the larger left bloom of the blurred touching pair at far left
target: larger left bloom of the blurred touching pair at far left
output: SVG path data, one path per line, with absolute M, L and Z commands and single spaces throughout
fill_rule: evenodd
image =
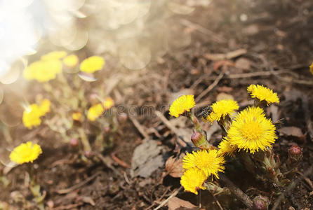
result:
M 40 117 L 42 116 L 41 109 L 37 104 L 31 104 L 23 112 L 22 122 L 28 129 L 37 127 L 41 124 Z

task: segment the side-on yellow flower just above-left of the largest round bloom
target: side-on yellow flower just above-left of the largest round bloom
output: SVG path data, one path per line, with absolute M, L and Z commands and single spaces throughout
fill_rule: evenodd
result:
M 235 110 L 238 110 L 239 106 L 237 102 L 232 99 L 222 99 L 218 102 L 212 104 L 212 112 L 206 118 L 211 123 L 216 121 L 220 121 L 220 118 L 224 119 L 227 115 L 231 115 Z

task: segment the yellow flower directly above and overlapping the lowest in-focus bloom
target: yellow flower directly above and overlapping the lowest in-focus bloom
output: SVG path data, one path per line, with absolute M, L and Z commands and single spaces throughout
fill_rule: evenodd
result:
M 188 170 L 197 167 L 206 177 L 214 175 L 218 179 L 218 172 L 224 172 L 224 163 L 224 158 L 218 155 L 217 150 L 201 150 L 187 153 L 182 159 L 182 168 Z

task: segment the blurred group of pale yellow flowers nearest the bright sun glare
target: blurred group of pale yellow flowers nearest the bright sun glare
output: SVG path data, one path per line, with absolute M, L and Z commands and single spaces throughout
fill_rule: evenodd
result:
M 79 58 L 77 55 L 67 55 L 65 51 L 53 51 L 46 55 L 42 55 L 41 58 L 29 64 L 23 76 L 27 80 L 37 80 L 41 83 L 53 80 L 58 73 L 62 72 L 62 64 L 69 68 L 77 66 Z M 100 56 L 91 56 L 84 59 L 79 69 L 86 73 L 93 73 L 102 69 L 105 64 L 105 60 Z

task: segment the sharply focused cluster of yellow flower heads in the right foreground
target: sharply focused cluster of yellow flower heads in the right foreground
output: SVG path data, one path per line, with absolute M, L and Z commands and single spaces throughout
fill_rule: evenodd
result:
M 266 102 L 267 106 L 279 103 L 277 93 L 262 85 L 250 85 L 247 88 L 251 97 L 259 102 Z M 189 113 L 195 106 L 193 95 L 183 95 L 171 104 L 169 113 L 178 117 Z M 218 123 L 223 120 L 229 122 L 226 129 L 227 135 L 222 139 L 217 149 L 200 150 L 187 153 L 183 158 L 184 174 L 180 183 L 189 191 L 197 194 L 197 190 L 204 189 L 204 181 L 210 176 L 218 179 L 218 172 L 223 172 L 225 155 L 233 155 L 236 151 L 255 153 L 265 151 L 277 139 L 275 127 L 270 119 L 265 117 L 263 109 L 252 106 L 244 109 L 234 116 L 239 105 L 232 99 L 222 99 L 212 104 L 204 120 Z M 233 118 L 233 119 L 232 119 Z M 220 125 L 225 125 L 221 123 Z

